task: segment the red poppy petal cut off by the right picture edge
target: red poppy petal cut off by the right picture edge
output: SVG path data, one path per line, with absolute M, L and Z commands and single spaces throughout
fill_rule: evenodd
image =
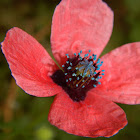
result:
M 101 59 L 105 76 L 95 92 L 114 102 L 140 104 L 140 42 L 123 45 Z

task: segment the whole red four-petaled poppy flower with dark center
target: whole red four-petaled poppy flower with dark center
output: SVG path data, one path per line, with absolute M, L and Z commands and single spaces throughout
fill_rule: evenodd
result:
M 51 32 L 52 52 L 14 27 L 2 42 L 12 75 L 25 92 L 55 96 L 48 120 L 79 136 L 110 137 L 127 124 L 114 102 L 140 104 L 140 42 L 99 55 L 113 27 L 113 12 L 101 0 L 62 0 Z

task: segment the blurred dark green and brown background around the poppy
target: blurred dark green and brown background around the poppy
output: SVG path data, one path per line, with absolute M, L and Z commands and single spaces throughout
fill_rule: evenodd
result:
M 80 0 L 79 0 L 80 1 Z M 104 0 L 115 13 L 114 29 L 103 54 L 129 42 L 140 41 L 140 0 Z M 60 0 L 0 0 L 0 42 L 17 26 L 34 36 L 50 53 L 51 20 Z M 118 58 L 119 59 L 119 58 Z M 0 140 L 86 140 L 52 126 L 47 115 L 53 97 L 26 94 L 11 76 L 0 53 Z M 140 139 L 140 105 L 122 105 L 128 125 L 110 140 Z M 104 140 L 108 138 L 95 138 Z

